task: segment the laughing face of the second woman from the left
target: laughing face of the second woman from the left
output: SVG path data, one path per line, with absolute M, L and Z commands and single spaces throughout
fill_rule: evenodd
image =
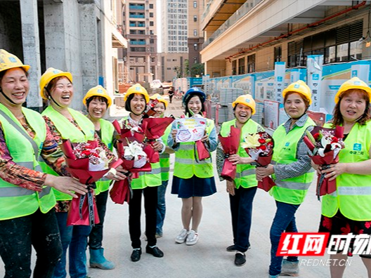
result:
M 56 81 L 56 84 L 52 86 L 50 94 L 60 107 L 68 107 L 73 97 L 73 86 L 71 81 L 67 79 L 67 77 L 60 77 Z

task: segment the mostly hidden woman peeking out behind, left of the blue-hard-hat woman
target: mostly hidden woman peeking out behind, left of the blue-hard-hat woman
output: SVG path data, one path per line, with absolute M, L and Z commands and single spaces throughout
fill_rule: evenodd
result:
M 167 109 L 169 103 L 160 94 L 155 93 L 155 95 L 150 96 L 151 100 L 157 100 L 157 104 L 153 109 L 156 114 L 154 117 L 162 118 L 164 117 L 164 112 Z M 167 145 L 167 138 L 171 131 L 171 125 L 169 125 L 162 136 L 162 141 Z M 166 213 L 166 202 L 165 193 L 167 190 L 167 184 L 169 183 L 169 171 L 170 171 L 170 154 L 174 154 L 174 150 L 171 147 L 166 146 L 165 151 L 160 154 L 160 166 L 161 166 L 161 180 L 162 184 L 157 190 L 157 225 L 156 225 L 156 237 L 162 237 L 162 226 L 164 225 L 165 213 Z

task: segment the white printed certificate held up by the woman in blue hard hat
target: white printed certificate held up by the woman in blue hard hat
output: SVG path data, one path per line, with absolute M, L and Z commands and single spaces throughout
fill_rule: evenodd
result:
M 204 118 L 181 118 L 176 119 L 175 128 L 178 130 L 176 133 L 176 142 L 195 142 L 200 140 L 204 135 L 207 120 Z

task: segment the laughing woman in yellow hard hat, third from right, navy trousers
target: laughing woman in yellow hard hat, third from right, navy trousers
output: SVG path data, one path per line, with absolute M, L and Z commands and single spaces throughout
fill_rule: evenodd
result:
M 256 105 L 251 95 L 240 95 L 233 103 L 235 119 L 221 124 L 220 134 L 227 137 L 230 127 L 239 128 L 240 143 L 247 134 L 252 134 L 264 129 L 251 119 L 255 114 Z M 221 173 L 224 154 L 221 146 L 216 149 L 216 164 Z M 246 263 L 245 252 L 250 248 L 249 234 L 252 222 L 252 201 L 256 193 L 257 181 L 255 167 L 251 165 L 254 160 L 249 157 L 243 147 L 238 148 L 237 154 L 232 154 L 228 160 L 236 164 L 236 178 L 226 180 L 227 192 L 229 193 L 230 213 L 232 216 L 233 245 L 227 247 L 227 251 L 235 251 L 235 265 L 242 266 Z M 220 178 L 223 180 L 223 178 Z

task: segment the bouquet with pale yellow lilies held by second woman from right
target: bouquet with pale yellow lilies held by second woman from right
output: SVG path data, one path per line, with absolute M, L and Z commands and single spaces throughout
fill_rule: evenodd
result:
M 241 147 L 254 159 L 257 167 L 266 167 L 271 163 L 273 157 L 273 138 L 265 131 L 247 134 Z M 268 192 L 275 185 L 271 177 L 263 178 L 258 182 L 258 188 Z

